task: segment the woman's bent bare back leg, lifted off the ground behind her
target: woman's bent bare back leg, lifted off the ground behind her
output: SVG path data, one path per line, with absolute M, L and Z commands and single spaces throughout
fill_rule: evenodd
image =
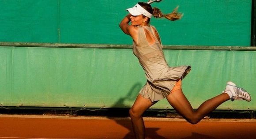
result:
M 230 96 L 226 93 L 222 93 L 214 98 L 204 101 L 197 110 L 192 109 L 192 106 L 183 94 L 182 89 L 172 92 L 166 98 L 169 104 L 189 123 L 196 124 L 223 102 L 229 100 Z

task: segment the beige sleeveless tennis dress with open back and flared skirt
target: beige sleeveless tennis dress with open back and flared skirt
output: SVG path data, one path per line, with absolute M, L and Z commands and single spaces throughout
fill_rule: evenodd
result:
M 144 29 L 152 34 L 156 40 L 154 44 L 149 45 Z M 161 100 L 170 94 L 175 83 L 183 79 L 191 69 L 191 66 L 169 67 L 162 51 L 162 44 L 158 41 L 154 30 L 154 26 L 139 26 L 138 44 L 133 41 L 132 48 L 147 78 L 147 83 L 139 94 L 152 102 Z

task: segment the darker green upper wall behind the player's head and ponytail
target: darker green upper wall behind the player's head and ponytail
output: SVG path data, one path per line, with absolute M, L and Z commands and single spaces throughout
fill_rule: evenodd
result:
M 147 0 L 145 0 L 147 1 Z M 118 25 L 137 0 L 0 0 L 0 41 L 131 44 Z M 152 19 L 164 45 L 249 46 L 251 0 L 163 0 L 176 22 Z

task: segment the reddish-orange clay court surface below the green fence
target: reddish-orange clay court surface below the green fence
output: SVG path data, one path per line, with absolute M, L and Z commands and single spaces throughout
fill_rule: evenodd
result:
M 256 139 L 255 119 L 144 118 L 146 139 Z M 0 115 L 0 139 L 134 139 L 128 117 Z

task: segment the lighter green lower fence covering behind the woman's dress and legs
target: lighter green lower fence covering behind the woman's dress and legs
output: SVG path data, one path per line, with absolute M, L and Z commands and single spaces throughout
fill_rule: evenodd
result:
M 75 45 L 75 44 L 74 44 Z M 0 47 L 1 106 L 129 108 L 146 83 L 131 49 Z M 183 81 L 194 109 L 233 81 L 252 101 L 218 109 L 256 109 L 256 51 L 164 49 L 170 66 L 191 65 Z M 171 108 L 164 99 L 154 109 Z

